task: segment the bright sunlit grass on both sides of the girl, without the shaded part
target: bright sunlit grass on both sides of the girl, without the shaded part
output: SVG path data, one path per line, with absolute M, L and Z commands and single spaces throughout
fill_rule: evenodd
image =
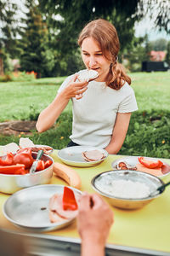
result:
M 169 110 L 170 73 L 131 73 L 139 110 Z M 29 119 L 52 102 L 65 78 L 0 83 L 0 121 Z M 65 111 L 71 110 L 71 103 Z

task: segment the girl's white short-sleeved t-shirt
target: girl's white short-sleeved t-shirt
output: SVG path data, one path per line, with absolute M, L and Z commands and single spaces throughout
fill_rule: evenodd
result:
M 65 79 L 58 93 L 65 89 L 72 76 Z M 92 81 L 82 99 L 72 98 L 71 140 L 81 146 L 105 148 L 111 142 L 116 122 L 116 113 L 138 110 L 133 88 L 124 84 L 120 90 L 113 90 L 105 82 Z

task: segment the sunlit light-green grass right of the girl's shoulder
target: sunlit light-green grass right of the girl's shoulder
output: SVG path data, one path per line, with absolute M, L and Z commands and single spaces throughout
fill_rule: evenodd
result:
M 132 73 L 139 110 L 170 109 L 170 72 Z

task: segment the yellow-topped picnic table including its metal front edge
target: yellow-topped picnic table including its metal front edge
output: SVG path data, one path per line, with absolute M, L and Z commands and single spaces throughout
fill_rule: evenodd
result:
M 51 156 L 54 161 L 62 163 L 57 157 L 57 150 Z M 110 154 L 108 158 L 93 167 L 73 167 L 82 179 L 82 191 L 95 193 L 91 186 L 92 178 L 100 172 L 112 170 L 113 160 L 124 156 Z M 170 164 L 170 159 L 165 160 Z M 170 175 L 162 177 L 164 182 L 170 180 Z M 64 180 L 52 177 L 51 184 L 67 185 Z M 27 233 L 19 227 L 11 224 L 3 216 L 3 203 L 9 195 L 0 193 L 0 227 L 13 232 L 20 232 L 23 236 L 32 238 L 34 249 L 39 251 L 40 247 L 48 252 L 48 255 L 59 255 L 57 250 L 70 252 L 68 255 L 79 255 L 80 238 L 77 232 L 76 221 L 61 230 L 53 230 L 42 233 Z M 148 205 L 137 210 L 122 210 L 111 207 L 114 212 L 115 222 L 111 227 L 110 236 L 106 244 L 107 255 L 170 255 L 170 189 L 163 192 L 161 196 L 151 201 Z M 51 254 L 49 253 L 51 252 Z M 74 252 L 71 254 L 71 252 Z M 54 253 L 54 254 L 53 254 Z M 78 254 L 77 254 L 78 253 Z M 38 254 L 37 255 L 42 255 Z M 45 254 L 44 254 L 45 255 Z

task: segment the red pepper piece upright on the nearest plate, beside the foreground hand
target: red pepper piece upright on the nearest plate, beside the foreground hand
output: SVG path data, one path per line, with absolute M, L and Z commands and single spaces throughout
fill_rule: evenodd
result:
M 63 210 L 75 211 L 77 208 L 78 206 L 74 192 L 68 187 L 65 187 L 63 193 Z

